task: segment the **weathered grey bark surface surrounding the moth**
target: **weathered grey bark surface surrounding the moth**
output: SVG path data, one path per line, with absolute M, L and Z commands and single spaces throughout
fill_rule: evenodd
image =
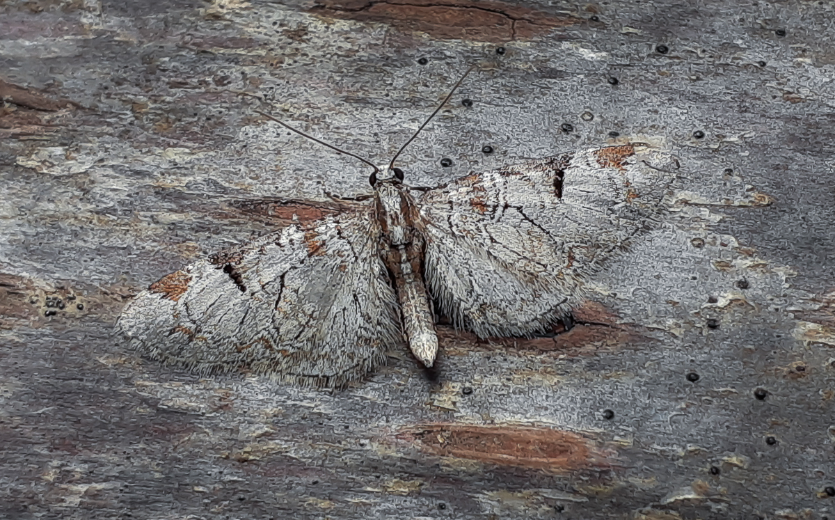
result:
M 833 15 L 0 3 L 0 517 L 833 517 Z M 253 109 L 383 162 L 471 64 L 413 185 L 629 141 L 681 162 L 582 324 L 442 328 L 437 381 L 402 350 L 340 392 L 124 349 L 132 294 L 280 224 L 246 201 L 367 191 Z

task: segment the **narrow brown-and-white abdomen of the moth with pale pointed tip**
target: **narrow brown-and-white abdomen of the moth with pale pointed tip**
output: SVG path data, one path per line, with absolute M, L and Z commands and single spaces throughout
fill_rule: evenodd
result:
M 432 307 L 421 275 L 421 244 L 394 246 L 388 252 L 387 266 L 394 275 L 394 288 L 400 302 L 403 332 L 412 354 L 431 367 L 438 355 Z

